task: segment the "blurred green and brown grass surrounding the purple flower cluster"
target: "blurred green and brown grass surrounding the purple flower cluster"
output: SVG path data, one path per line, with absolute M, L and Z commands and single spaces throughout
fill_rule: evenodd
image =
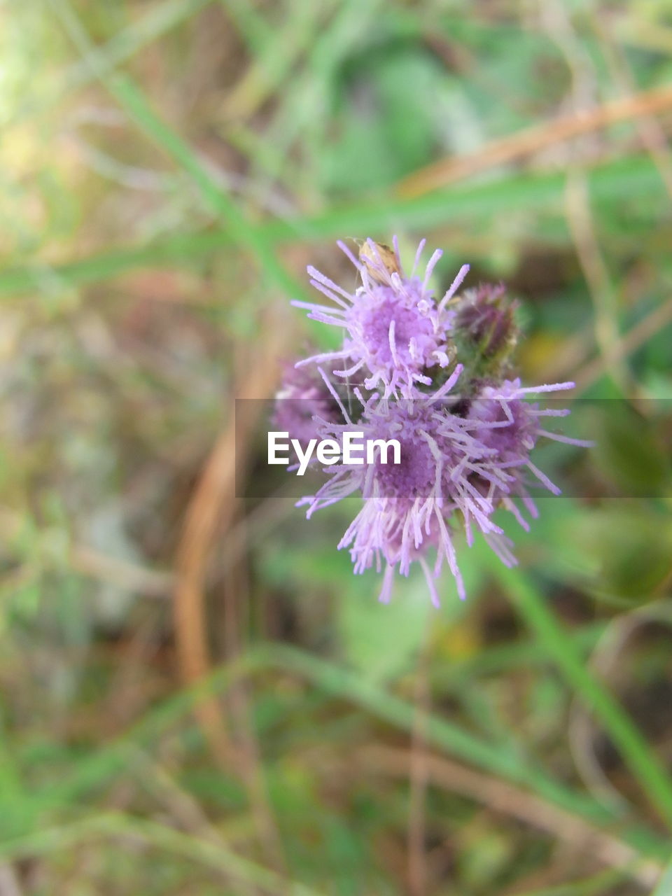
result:
M 671 82 L 665 0 L 0 3 L 2 896 L 672 892 Z M 392 233 L 599 400 L 440 612 L 235 497 Z

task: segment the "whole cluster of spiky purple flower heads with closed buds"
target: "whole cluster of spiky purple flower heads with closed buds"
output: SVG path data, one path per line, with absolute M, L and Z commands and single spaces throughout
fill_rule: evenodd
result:
M 327 481 L 299 504 L 307 505 L 310 517 L 346 495 L 361 495 L 362 508 L 338 546 L 349 547 L 355 572 L 384 569 L 380 599 L 387 601 L 394 573 L 408 575 L 418 562 L 438 605 L 436 579 L 444 564 L 465 596 L 453 544 L 458 527 L 468 544 L 479 530 L 504 564 L 513 565 L 513 543 L 494 521 L 495 510 L 503 507 L 528 529 L 524 512 L 538 515 L 530 487 L 559 492 L 530 460 L 538 439 L 586 443 L 544 428 L 543 418 L 568 410 L 527 401 L 530 393 L 573 383 L 530 388 L 513 378 L 509 362 L 518 334 L 504 287 L 481 285 L 458 294 L 469 271 L 464 265 L 437 301 L 429 280 L 441 252 L 420 276 L 424 245 L 406 276 L 396 239 L 392 249 L 366 240 L 359 258 L 339 244 L 358 270 L 361 284 L 354 293 L 308 268 L 332 305 L 293 304 L 307 308 L 314 320 L 339 326 L 343 343 L 338 351 L 297 362 L 279 392 L 276 419 L 287 422 L 291 434 L 282 409 L 290 395 L 306 401 L 297 437 L 338 439 L 357 429 L 367 439 L 400 441 L 400 464 L 379 458 L 325 467 Z M 305 367 L 314 375 L 303 384 L 297 375 Z

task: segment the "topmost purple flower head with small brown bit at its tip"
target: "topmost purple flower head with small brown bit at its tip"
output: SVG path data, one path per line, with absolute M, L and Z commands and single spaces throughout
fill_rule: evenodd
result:
M 357 268 L 362 285 L 350 293 L 320 271 L 308 267 L 311 283 L 335 306 L 307 302 L 293 305 L 307 308 L 308 316 L 344 330 L 340 351 L 325 352 L 306 358 L 299 366 L 319 362 L 346 362 L 344 369 L 333 374 L 342 377 L 364 370 L 366 389 L 381 388 L 383 398 L 408 395 L 416 383 L 432 385 L 427 371 L 450 363 L 450 331 L 452 310 L 447 304 L 469 271 L 463 265 L 451 288 L 438 303 L 428 283 L 435 264 L 443 254 L 437 249 L 426 265 L 422 280 L 416 276 L 425 240 L 418 246 L 415 263 L 406 277 L 401 268 L 399 245 L 393 239 L 393 263 L 386 262 L 373 240 L 366 240 L 366 260 L 358 261 L 343 243 L 338 244 Z M 391 250 L 390 250 L 391 251 Z

